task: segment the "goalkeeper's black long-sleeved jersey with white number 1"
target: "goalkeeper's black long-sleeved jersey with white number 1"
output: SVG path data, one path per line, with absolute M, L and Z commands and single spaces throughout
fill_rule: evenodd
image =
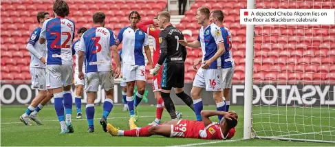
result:
M 184 35 L 180 30 L 167 26 L 160 32 L 160 59 L 158 64 L 162 65 L 166 59 L 166 63 L 184 63 L 186 58 L 186 47 L 178 43 L 178 40 L 184 40 Z

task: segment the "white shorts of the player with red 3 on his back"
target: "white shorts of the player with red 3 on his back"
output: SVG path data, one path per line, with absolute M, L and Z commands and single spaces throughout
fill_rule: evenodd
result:
M 85 90 L 96 92 L 101 89 L 109 91 L 114 88 L 114 72 L 113 71 L 98 71 L 89 72 L 85 75 Z

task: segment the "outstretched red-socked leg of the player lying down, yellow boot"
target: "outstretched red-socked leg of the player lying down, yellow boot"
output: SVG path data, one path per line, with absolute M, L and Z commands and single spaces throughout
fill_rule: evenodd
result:
M 161 135 L 164 137 L 170 137 L 171 125 L 145 126 L 129 131 L 122 131 L 115 128 L 111 124 L 107 124 L 107 131 L 113 136 L 149 137 L 151 135 Z

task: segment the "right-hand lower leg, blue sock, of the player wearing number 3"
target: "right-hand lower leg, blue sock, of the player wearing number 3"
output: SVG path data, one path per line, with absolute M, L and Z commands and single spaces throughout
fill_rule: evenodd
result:
M 102 130 L 107 132 L 107 117 L 111 112 L 111 109 L 113 109 L 114 89 L 110 89 L 108 91 L 105 90 L 105 93 L 106 99 L 103 104 L 103 113 L 100 124 L 102 125 Z

